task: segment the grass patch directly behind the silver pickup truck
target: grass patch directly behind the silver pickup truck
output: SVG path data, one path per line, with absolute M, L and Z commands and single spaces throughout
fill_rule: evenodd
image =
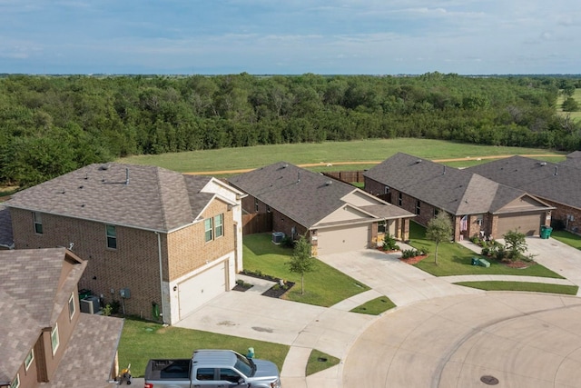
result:
M 125 319 L 118 348 L 119 366 L 131 363 L 132 375 L 143 377 L 152 358 L 191 358 L 196 349 L 231 349 L 246 354 L 249 347 L 254 348 L 256 358 L 276 363 L 279 371 L 289 353 L 289 346 L 280 343 Z

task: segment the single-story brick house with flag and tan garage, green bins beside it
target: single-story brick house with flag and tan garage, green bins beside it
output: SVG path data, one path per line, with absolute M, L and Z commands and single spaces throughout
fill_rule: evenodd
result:
M 367 192 L 415 213 L 419 224 L 450 214 L 455 241 L 475 234 L 502 238 L 511 230 L 539 234 L 554 209 L 522 190 L 409 154 L 395 154 L 364 176 Z

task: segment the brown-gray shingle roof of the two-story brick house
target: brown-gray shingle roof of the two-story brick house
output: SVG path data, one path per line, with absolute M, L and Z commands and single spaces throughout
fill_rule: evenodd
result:
M 191 224 L 212 177 L 149 165 L 90 164 L 14 194 L 7 206 L 168 232 Z

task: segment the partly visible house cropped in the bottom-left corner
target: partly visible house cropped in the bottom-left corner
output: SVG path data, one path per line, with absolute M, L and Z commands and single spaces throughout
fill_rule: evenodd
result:
M 123 319 L 81 313 L 87 262 L 64 248 L 0 251 L 0 386 L 111 387 Z

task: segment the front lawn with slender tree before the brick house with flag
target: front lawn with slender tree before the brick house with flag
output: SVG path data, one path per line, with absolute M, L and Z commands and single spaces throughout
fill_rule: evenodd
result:
M 539 276 L 564 279 L 541 264 L 533 264 L 527 268 L 511 268 L 488 260 L 490 267 L 472 265 L 472 257 L 484 257 L 475 254 L 468 248 L 456 243 L 440 243 L 438 246 L 438 265 L 434 264 L 436 244 L 426 239 L 426 228 L 415 222 L 409 223 L 409 244 L 416 249 L 428 248 L 428 257 L 414 264 L 422 271 L 434 276 L 452 276 L 462 274 L 506 274 L 519 276 Z

